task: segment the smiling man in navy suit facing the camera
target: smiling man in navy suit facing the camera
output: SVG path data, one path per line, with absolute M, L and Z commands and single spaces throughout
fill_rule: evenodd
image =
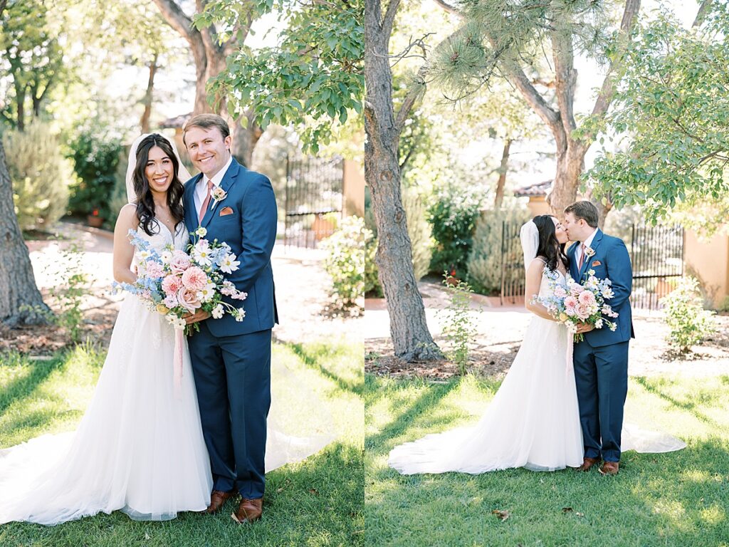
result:
M 240 261 L 226 279 L 239 291 L 245 318 L 210 319 L 203 311 L 189 338 L 200 420 L 213 474 L 208 513 L 236 493 L 243 498 L 233 519 L 260 519 L 265 486 L 266 417 L 270 406 L 271 329 L 278 322 L 270 255 L 276 241 L 276 198 L 270 181 L 230 155 L 230 130 L 222 117 L 203 114 L 182 129 L 200 174 L 184 185 L 184 222 L 206 228 L 209 241 L 225 241 Z M 228 302 L 241 307 L 240 300 Z

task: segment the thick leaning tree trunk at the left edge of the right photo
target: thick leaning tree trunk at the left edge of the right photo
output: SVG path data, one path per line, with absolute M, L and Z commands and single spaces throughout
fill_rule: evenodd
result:
M 378 230 L 375 262 L 387 302 L 394 352 L 397 357 L 413 361 L 441 354 L 429 333 L 413 273 L 412 245 L 400 193 L 397 144 L 402 124 L 398 122 L 407 117 L 416 93 L 408 95 L 396 122 L 388 55 L 398 7 L 399 0 L 390 0 L 383 18 L 380 0 L 364 4 L 364 178 L 372 195 Z

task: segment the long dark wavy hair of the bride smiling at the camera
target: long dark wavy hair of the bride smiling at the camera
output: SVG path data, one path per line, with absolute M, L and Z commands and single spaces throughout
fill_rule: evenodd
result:
M 179 162 L 177 161 L 177 156 L 167 139 L 157 133 L 152 133 L 144 137 L 137 147 L 136 166 L 134 166 L 133 174 L 134 193 L 136 193 L 137 198 L 137 218 L 139 219 L 139 225 L 142 230 L 149 236 L 152 236 L 154 233 L 159 233 L 161 229 L 157 225 L 157 221 L 155 221 L 155 200 L 152 198 L 152 190 L 149 188 L 147 174 L 144 173 L 147 168 L 147 161 L 149 160 L 149 150 L 153 147 L 161 148 L 172 161 L 174 176 L 172 177 L 170 187 L 167 189 L 167 206 L 170 208 L 175 225 L 183 219 L 182 194 L 184 193 L 184 186 L 178 178 Z M 155 225 L 157 225 L 157 231 L 153 232 L 152 230 L 155 228 Z

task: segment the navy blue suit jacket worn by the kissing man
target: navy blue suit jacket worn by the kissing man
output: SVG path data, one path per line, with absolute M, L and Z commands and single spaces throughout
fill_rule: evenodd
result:
M 580 243 L 574 243 L 567 249 L 567 257 L 569 258 L 569 274 L 575 281 L 582 282 L 586 279 L 585 274 L 588 270 L 594 270 L 598 279 L 606 277 L 612 281 L 612 292 L 615 293 L 613 298 L 606 300 L 613 311 L 616 311 L 618 317 L 611 321 L 617 322 L 617 329 L 612 332 L 607 327 L 601 329 L 590 330 L 585 333 L 585 340 L 591 346 L 607 346 L 609 344 L 619 344 L 631 338 L 635 338 L 633 331 L 633 314 L 631 311 L 630 296 L 633 290 L 633 268 L 631 267 L 631 258 L 628 255 L 628 249 L 625 247 L 623 240 L 620 238 L 607 236 L 602 230 L 597 230 L 590 247 L 595 251 L 591 257 L 585 257 L 582 262 L 582 268 L 577 271 L 576 252 Z

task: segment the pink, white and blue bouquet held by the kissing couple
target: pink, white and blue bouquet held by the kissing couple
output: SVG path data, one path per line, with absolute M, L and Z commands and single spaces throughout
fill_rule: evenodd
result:
M 557 272 L 547 271 L 550 295 L 536 296 L 533 300 L 545 306 L 558 322 L 566 325 L 569 332 L 575 335 L 576 342 L 585 338 L 582 334 L 577 334 L 577 323 L 587 323 L 596 329 L 604 326 L 610 330 L 617 328 L 615 322 L 607 319 L 617 317 L 617 313 L 605 303 L 605 300 L 613 297 L 612 282 L 607 278 L 597 279 L 594 270 L 588 270 L 586 278 L 580 284 L 568 276 L 567 286 L 564 287 L 558 281 Z

